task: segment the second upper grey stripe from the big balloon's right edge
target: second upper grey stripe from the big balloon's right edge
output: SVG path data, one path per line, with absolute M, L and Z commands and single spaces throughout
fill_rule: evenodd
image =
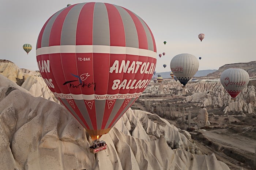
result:
M 121 15 L 124 24 L 124 32 L 125 32 L 125 46 L 126 47 L 134 47 L 139 48 L 139 39 L 137 29 L 132 20 L 132 17 L 129 15 L 124 8 L 114 5 L 118 12 Z

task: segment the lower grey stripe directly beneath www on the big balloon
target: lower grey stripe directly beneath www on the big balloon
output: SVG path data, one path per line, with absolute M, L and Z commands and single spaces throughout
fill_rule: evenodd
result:
M 95 101 L 95 109 L 96 109 L 96 120 L 97 120 L 97 129 L 101 129 L 106 100 L 94 100 Z

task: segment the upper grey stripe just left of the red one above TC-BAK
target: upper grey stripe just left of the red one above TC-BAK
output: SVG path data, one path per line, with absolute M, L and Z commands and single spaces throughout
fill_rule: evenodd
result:
M 77 4 L 68 12 L 61 30 L 60 45 L 76 45 L 76 26 L 84 4 Z

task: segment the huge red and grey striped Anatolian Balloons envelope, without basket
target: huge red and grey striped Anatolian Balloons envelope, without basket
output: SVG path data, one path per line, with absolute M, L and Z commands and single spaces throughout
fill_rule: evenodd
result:
M 147 87 L 157 54 L 139 16 L 94 2 L 53 14 L 36 48 L 46 84 L 93 140 L 108 133 Z

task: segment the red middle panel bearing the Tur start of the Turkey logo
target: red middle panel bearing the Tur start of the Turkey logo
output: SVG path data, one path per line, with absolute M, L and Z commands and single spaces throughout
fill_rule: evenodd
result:
M 66 82 L 70 82 L 68 83 L 70 93 L 75 95 L 81 94 L 81 87 L 83 86 L 83 82 L 76 69 L 76 54 L 62 53 L 61 63 L 65 80 Z

